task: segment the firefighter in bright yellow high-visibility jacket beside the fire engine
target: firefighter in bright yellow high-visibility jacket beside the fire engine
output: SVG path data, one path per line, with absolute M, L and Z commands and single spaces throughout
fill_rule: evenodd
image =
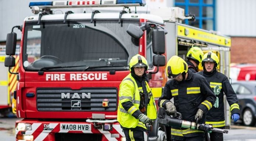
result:
M 157 117 L 156 103 L 146 76 L 147 60 L 137 54 L 131 58 L 129 69 L 131 73 L 120 84 L 117 121 L 126 141 L 144 141 L 147 124 Z

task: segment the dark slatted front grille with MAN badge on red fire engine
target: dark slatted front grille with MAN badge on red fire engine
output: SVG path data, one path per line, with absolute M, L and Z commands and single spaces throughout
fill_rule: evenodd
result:
M 103 100 L 108 107 L 103 107 Z M 44 89 L 36 91 L 38 111 L 116 111 L 116 88 Z

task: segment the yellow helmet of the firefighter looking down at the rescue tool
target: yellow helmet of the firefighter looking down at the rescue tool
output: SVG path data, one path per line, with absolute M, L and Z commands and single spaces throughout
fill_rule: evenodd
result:
M 166 64 L 166 73 L 168 78 L 175 78 L 182 74 L 183 79 L 188 72 L 188 64 L 181 57 L 174 55 Z

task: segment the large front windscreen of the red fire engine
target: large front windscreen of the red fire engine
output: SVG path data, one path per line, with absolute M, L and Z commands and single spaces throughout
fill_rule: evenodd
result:
M 102 66 L 96 70 L 128 69 L 124 66 L 128 66 L 129 57 L 139 51 L 138 42 L 126 32 L 130 23 L 138 25 L 139 22 L 124 21 L 122 25 L 116 21 L 26 23 L 24 68 L 27 71 L 58 66 L 68 67 L 50 71 L 79 71 L 92 66 Z

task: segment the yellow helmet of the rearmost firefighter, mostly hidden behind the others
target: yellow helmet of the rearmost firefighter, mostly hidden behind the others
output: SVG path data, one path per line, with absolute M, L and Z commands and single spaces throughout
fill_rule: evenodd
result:
M 196 64 L 199 64 L 202 62 L 203 51 L 199 47 L 192 47 L 189 49 L 186 57 L 188 60 L 193 59 Z

